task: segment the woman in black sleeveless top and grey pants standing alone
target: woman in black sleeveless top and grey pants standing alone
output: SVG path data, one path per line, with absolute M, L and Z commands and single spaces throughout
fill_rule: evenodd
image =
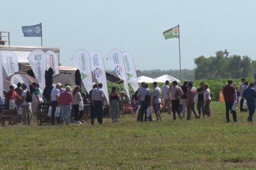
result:
M 117 92 L 116 87 L 112 87 L 112 90 L 109 94 L 109 101 L 110 101 L 110 115 L 112 122 L 118 121 L 118 114 L 119 114 L 119 100 L 120 96 Z

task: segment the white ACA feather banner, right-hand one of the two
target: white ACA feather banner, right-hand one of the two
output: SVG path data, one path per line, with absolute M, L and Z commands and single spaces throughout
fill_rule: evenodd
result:
M 107 60 L 109 64 L 113 67 L 118 77 L 123 80 L 125 91 L 130 100 L 130 92 L 122 52 L 119 49 L 113 49 L 109 52 Z

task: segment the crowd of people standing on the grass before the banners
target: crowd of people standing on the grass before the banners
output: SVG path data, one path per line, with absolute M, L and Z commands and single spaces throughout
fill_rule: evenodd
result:
M 249 117 L 247 121 L 252 122 L 255 111 L 256 91 L 254 87 L 256 87 L 256 81 L 254 83 L 248 83 L 245 79 L 241 79 L 241 81 L 240 111 L 247 111 L 248 109 Z M 207 83 L 200 82 L 200 87 L 197 89 L 191 81 L 184 81 L 183 84 L 177 83 L 177 81 L 172 81 L 171 83 L 172 86 L 169 86 L 170 82 L 168 80 L 165 81 L 164 86 L 160 89 L 158 83 L 153 82 L 151 84 L 152 91 L 150 91 L 148 83 L 141 83 L 141 87 L 135 92 L 134 97 L 138 109 L 137 121 L 153 121 L 152 111 L 155 112 L 156 121 L 162 120 L 162 112 L 168 112 L 171 115 L 171 111 L 173 120 L 176 120 L 176 114 L 179 119 L 186 118 L 191 120 L 192 112 L 196 119 L 199 119 L 201 116 L 211 116 L 211 92 Z M 94 124 L 95 119 L 97 119 L 99 124 L 103 123 L 103 108 L 106 102 L 102 87 L 102 83 L 94 84 L 93 89 L 88 93 L 91 108 L 91 124 Z M 37 107 L 44 102 L 39 84 L 33 82 L 31 88 L 31 101 L 27 100 L 27 93 L 30 94 L 30 92 L 24 83 L 18 83 L 17 88 L 10 86 L 10 90 L 5 95 L 5 105 L 9 105 L 11 100 L 15 102 L 13 108 L 14 124 L 31 124 L 32 117 L 36 115 Z M 109 93 L 110 118 L 112 122 L 118 122 L 121 112 L 124 111 L 125 95 L 124 91 L 119 94 L 116 87 L 112 87 Z M 226 122 L 230 122 L 229 113 L 232 114 L 233 121 L 238 122 L 236 113 L 236 106 L 238 104 L 237 93 L 232 80 L 228 80 L 227 85 L 223 88 L 223 97 L 226 106 Z M 80 86 L 75 86 L 73 90 L 71 90 L 70 86 L 66 86 L 63 89 L 62 84 L 57 83 L 50 93 L 52 125 L 63 124 L 64 121 L 66 121 L 66 125 L 69 125 L 72 108 L 74 110 L 75 123 L 82 125 L 81 119 L 84 114 L 83 100 L 84 97 L 81 95 Z M 57 112 L 59 111 L 59 116 L 56 115 L 56 110 Z

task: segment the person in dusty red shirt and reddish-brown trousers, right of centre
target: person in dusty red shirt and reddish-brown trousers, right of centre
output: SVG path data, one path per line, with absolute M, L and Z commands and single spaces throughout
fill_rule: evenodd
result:
M 193 88 L 193 83 L 189 82 L 187 85 L 187 120 L 191 120 L 191 112 L 193 111 L 196 119 L 199 118 L 199 115 L 197 114 L 195 110 L 195 96 L 196 91 Z

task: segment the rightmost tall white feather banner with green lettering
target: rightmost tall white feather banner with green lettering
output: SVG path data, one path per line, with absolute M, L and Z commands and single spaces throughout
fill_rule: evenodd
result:
M 133 57 L 129 52 L 123 51 L 123 59 L 125 63 L 128 82 L 131 83 L 133 90 L 136 91 L 138 90 L 139 85 Z

